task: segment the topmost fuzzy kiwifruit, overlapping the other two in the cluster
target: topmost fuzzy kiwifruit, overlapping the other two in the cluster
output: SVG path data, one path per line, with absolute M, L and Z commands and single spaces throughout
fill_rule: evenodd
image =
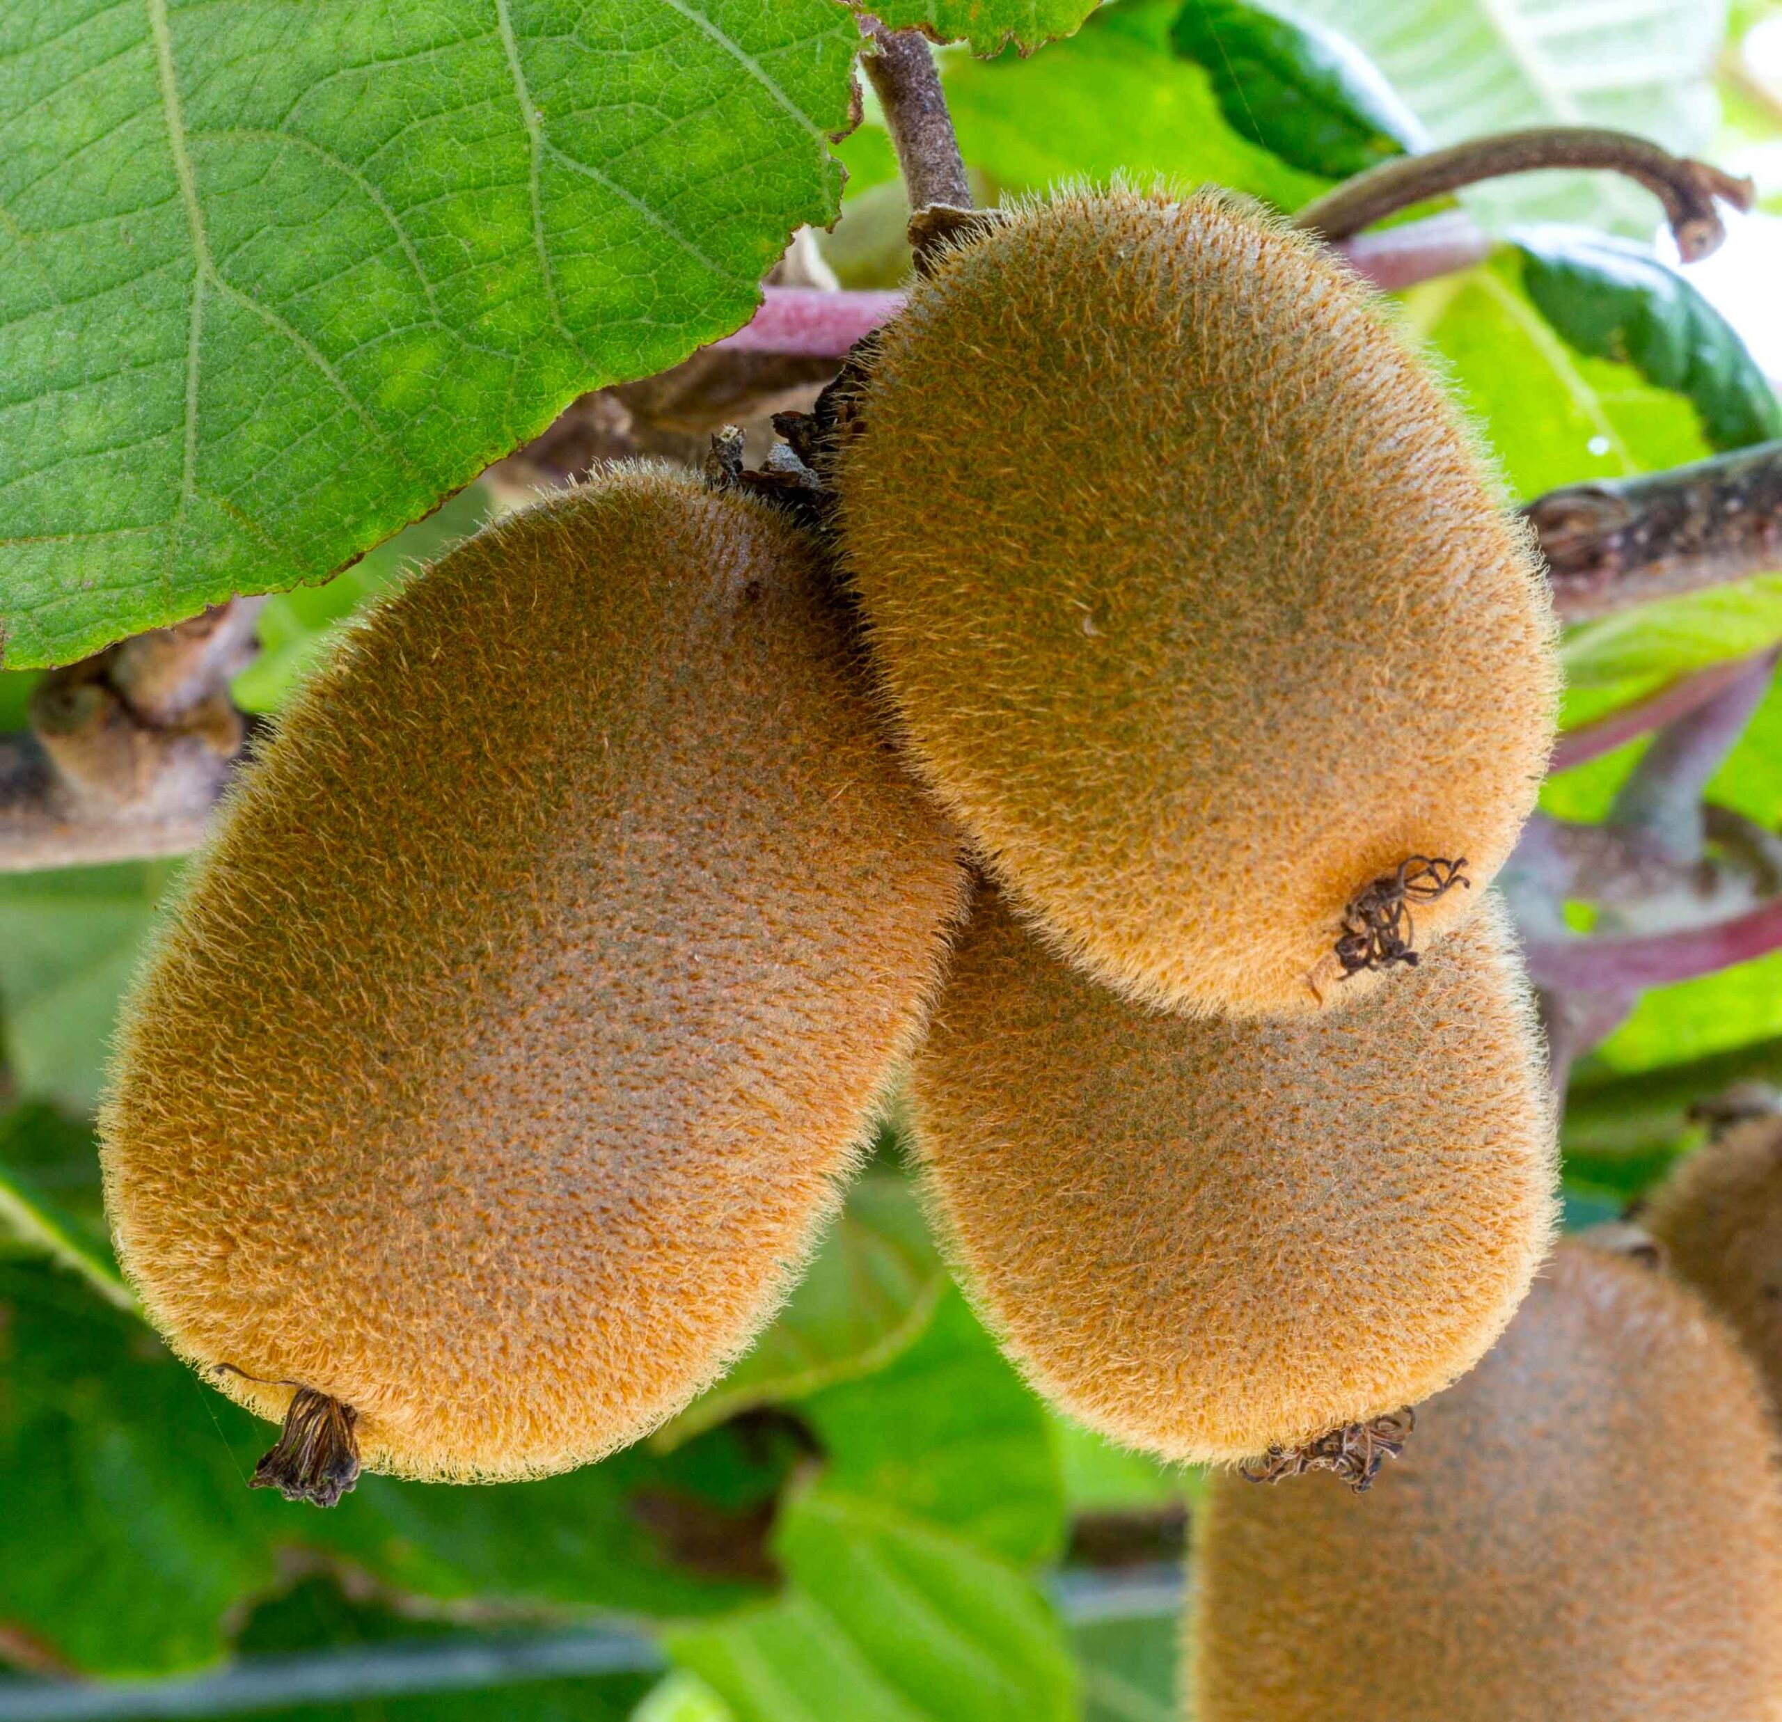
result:
M 969 228 L 864 367 L 830 463 L 887 708 L 1060 954 L 1272 1014 L 1465 918 L 1550 603 L 1358 276 L 1222 193 L 1071 193 Z

